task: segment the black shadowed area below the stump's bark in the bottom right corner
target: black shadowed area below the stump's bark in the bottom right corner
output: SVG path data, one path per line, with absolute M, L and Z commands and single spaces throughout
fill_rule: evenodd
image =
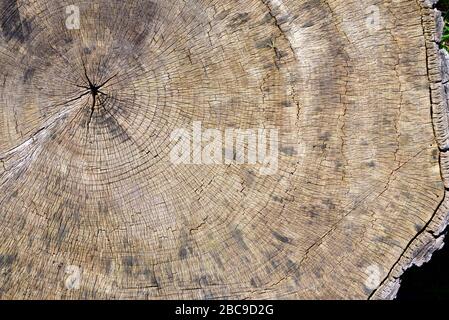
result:
M 408 269 L 401 280 L 398 300 L 449 300 L 449 244 L 422 267 Z

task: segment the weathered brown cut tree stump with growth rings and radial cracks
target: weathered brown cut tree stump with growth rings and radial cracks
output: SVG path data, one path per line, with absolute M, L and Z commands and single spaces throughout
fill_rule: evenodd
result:
M 0 297 L 393 298 L 448 222 L 434 2 L 1 0 Z

